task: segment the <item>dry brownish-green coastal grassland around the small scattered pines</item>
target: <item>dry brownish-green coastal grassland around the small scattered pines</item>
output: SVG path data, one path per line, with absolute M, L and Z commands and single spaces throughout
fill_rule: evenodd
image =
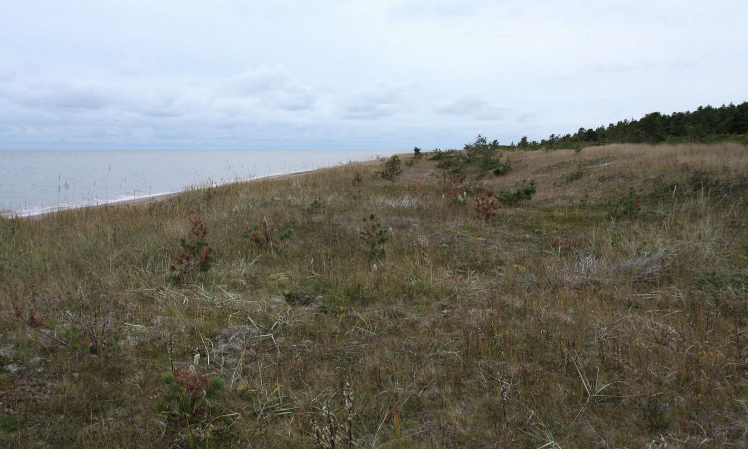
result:
M 459 199 L 435 161 L 372 161 L 4 218 L 0 442 L 312 447 L 313 422 L 344 436 L 348 379 L 350 447 L 744 447 L 746 153 L 513 152 Z M 523 179 L 533 199 L 476 214 Z M 196 217 L 212 266 L 179 279 Z M 292 237 L 242 237 L 263 220 Z M 180 416 L 162 377 L 189 373 L 224 388 Z

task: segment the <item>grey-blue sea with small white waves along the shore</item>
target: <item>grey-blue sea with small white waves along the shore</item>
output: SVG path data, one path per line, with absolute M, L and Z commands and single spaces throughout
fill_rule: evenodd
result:
M 1 150 L 0 214 L 34 215 L 369 161 L 371 150 Z

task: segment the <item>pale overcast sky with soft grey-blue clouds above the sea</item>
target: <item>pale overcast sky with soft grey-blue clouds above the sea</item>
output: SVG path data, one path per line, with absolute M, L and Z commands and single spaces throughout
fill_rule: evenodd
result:
M 0 149 L 462 148 L 748 101 L 745 0 L 0 1 Z

